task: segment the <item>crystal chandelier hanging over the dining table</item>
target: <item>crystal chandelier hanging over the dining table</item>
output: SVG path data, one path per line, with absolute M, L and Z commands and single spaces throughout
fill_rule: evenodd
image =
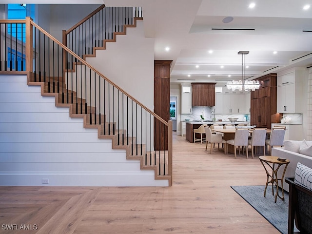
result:
M 249 51 L 239 51 L 238 55 L 242 55 L 242 79 L 245 80 L 245 55 L 248 55 Z M 256 89 L 260 88 L 259 80 L 245 80 L 243 84 L 242 80 L 232 80 L 228 81 L 227 88 L 231 89 L 232 91 L 239 90 L 242 91 L 244 86 L 244 90 L 252 90 L 255 91 Z

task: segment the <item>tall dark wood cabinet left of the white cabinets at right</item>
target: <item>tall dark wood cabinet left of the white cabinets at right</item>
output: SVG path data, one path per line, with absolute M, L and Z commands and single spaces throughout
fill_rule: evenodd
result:
M 277 107 L 277 76 L 268 74 L 256 80 L 260 88 L 251 92 L 251 125 L 271 129 L 272 122 L 279 122 Z

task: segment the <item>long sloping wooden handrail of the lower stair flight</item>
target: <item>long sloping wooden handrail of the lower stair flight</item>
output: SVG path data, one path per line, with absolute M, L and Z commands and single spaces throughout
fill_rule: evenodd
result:
M 82 62 L 83 64 L 85 64 L 86 66 L 88 66 L 91 70 L 93 70 L 96 74 L 98 74 L 100 77 L 104 78 L 107 82 L 109 82 L 110 84 L 112 84 L 114 87 L 116 87 L 117 89 L 119 89 L 122 93 L 124 93 L 126 96 L 128 96 L 129 98 L 131 98 L 132 100 L 134 100 L 135 102 L 137 102 L 137 104 L 139 106 L 141 106 L 142 108 L 144 108 L 147 112 L 149 112 L 151 115 L 153 115 L 154 117 L 156 117 L 156 119 L 158 119 L 160 122 L 162 122 L 164 125 L 168 126 L 168 122 L 166 122 L 163 118 L 159 117 L 158 115 L 156 115 L 153 111 L 151 111 L 148 107 L 146 107 L 145 105 L 143 105 L 141 102 L 139 102 L 136 98 L 132 97 L 130 94 L 128 94 L 125 90 L 123 90 L 122 88 L 120 88 L 116 83 L 114 83 L 113 81 L 109 80 L 108 78 L 106 78 L 103 74 L 101 74 L 97 69 L 95 69 L 92 65 L 90 65 L 88 62 L 86 62 L 84 59 L 81 59 L 78 55 L 76 55 L 74 52 L 72 52 L 70 49 L 68 49 L 65 45 L 63 45 L 58 39 L 54 38 L 53 36 L 51 36 L 48 32 L 46 32 L 43 28 L 41 28 L 38 24 L 36 24 L 34 21 L 30 21 L 30 23 L 35 26 L 36 28 L 38 28 L 42 33 L 44 33 L 48 38 L 54 40 L 57 44 L 59 44 L 60 47 L 62 47 L 65 51 L 67 51 L 69 54 L 71 54 L 73 57 L 75 57 L 76 59 L 80 60 L 80 62 Z

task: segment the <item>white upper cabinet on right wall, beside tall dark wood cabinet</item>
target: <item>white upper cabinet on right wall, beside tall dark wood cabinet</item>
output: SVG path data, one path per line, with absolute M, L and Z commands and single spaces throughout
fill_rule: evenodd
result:
M 277 112 L 302 112 L 302 70 L 292 70 L 277 77 Z

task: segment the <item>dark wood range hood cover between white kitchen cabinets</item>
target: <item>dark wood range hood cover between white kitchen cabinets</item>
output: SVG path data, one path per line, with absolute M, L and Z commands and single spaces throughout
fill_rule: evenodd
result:
M 215 106 L 216 83 L 192 83 L 192 106 Z

